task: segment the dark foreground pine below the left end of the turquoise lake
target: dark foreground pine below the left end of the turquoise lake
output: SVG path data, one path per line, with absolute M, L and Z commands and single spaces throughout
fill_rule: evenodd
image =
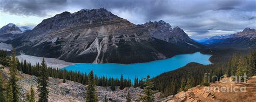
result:
M 87 102 L 95 102 L 97 101 L 97 92 L 95 90 L 95 81 L 93 78 L 93 71 L 89 73 L 88 76 L 88 85 L 86 90 L 86 101 Z

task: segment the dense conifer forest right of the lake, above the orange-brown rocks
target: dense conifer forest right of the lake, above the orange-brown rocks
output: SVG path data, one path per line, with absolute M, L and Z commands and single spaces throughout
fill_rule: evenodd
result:
M 153 78 L 154 90 L 164 93 L 164 97 L 176 94 L 180 91 L 186 91 L 197 85 L 209 85 L 218 78 L 226 74 L 230 76 L 247 77 L 256 75 L 256 51 L 251 51 L 248 55 L 235 54 L 228 62 L 215 63 L 210 65 L 202 65 L 198 63 L 190 63 L 180 69 L 165 72 L 156 78 Z M 205 73 L 210 75 L 210 82 L 204 79 Z M 217 76 L 217 77 L 213 77 Z

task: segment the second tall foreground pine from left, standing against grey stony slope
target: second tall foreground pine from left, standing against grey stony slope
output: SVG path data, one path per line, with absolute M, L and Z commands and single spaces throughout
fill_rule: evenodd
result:
M 39 97 L 39 102 L 45 102 L 48 101 L 48 70 L 47 70 L 47 66 L 46 63 L 43 61 L 41 63 L 40 69 L 39 69 L 39 76 L 37 78 L 37 91 L 39 92 L 38 97 Z

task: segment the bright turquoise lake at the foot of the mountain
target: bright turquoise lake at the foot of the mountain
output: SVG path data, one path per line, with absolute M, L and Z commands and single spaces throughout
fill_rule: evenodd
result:
M 192 54 L 176 55 L 172 58 L 156 60 L 147 63 L 135 64 L 75 64 L 64 67 L 68 71 L 80 71 L 89 73 L 93 70 L 98 76 L 106 76 L 120 78 L 123 74 L 124 78 L 130 78 L 133 82 L 135 77 L 145 78 L 147 75 L 156 77 L 161 73 L 176 70 L 188 63 L 196 62 L 204 65 L 211 64 L 208 60 L 212 55 L 204 55 L 200 52 Z

